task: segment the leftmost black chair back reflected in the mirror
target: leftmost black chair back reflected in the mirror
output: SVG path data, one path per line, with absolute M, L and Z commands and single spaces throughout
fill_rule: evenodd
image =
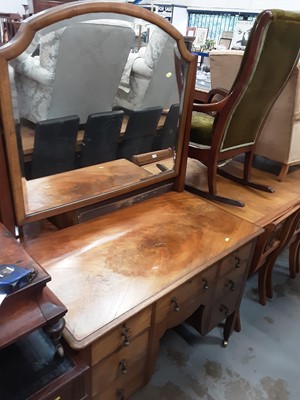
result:
M 71 115 L 35 126 L 30 179 L 75 169 L 79 117 Z

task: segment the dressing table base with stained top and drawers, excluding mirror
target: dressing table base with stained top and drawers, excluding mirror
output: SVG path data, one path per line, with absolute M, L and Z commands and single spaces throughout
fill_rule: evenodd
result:
M 68 307 L 64 337 L 91 366 L 92 398 L 142 386 L 162 334 L 191 315 L 204 334 L 226 319 L 228 340 L 261 232 L 169 192 L 25 243 Z

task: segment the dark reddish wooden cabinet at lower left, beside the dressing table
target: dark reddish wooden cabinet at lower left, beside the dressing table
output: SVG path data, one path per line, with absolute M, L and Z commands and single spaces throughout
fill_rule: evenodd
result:
M 88 367 L 64 353 L 60 336 L 67 309 L 47 287 L 50 276 L 1 224 L 0 249 L 0 264 L 36 271 L 30 284 L 0 306 L 0 398 L 86 399 Z

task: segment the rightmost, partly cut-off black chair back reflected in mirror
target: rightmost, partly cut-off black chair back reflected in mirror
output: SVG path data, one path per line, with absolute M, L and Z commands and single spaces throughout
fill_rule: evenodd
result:
M 175 149 L 178 135 L 179 122 L 179 104 L 172 104 L 161 129 L 157 130 L 157 135 L 154 139 L 153 150 Z

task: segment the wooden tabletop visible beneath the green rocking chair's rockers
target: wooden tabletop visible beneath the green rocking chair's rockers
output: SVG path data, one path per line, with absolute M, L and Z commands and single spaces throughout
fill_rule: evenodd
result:
M 228 164 L 228 170 L 241 175 L 242 166 L 243 164 L 233 161 Z M 272 186 L 275 192 L 267 193 L 251 189 L 218 175 L 218 194 L 241 200 L 245 203 L 245 207 L 230 206 L 218 202 L 213 202 L 213 204 L 261 227 L 273 222 L 288 210 L 300 206 L 300 169 L 289 172 L 283 182 L 278 181 L 277 175 L 256 168 L 253 168 L 252 171 L 253 182 Z M 197 160 L 188 159 L 186 183 L 207 190 L 206 167 Z

